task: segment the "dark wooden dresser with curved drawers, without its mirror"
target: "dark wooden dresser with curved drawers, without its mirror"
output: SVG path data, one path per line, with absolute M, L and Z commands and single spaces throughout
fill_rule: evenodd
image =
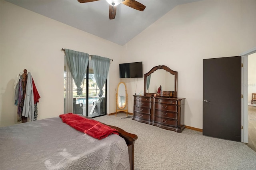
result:
M 185 98 L 134 95 L 133 120 L 182 132 Z

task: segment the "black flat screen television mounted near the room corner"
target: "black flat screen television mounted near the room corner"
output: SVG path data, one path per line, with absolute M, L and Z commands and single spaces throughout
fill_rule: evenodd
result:
M 119 64 L 119 77 L 120 78 L 142 78 L 142 61 L 135 63 L 122 63 Z

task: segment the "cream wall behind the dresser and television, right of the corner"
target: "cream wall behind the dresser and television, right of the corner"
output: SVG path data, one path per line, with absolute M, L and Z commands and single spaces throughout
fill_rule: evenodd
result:
M 256 1 L 177 6 L 126 44 L 125 60 L 142 61 L 144 73 L 156 65 L 178 71 L 178 97 L 186 98 L 185 125 L 202 129 L 203 59 L 237 56 L 256 47 L 255 7 Z M 124 81 L 134 93 L 134 81 Z M 138 79 L 137 92 L 143 84 L 144 79 Z

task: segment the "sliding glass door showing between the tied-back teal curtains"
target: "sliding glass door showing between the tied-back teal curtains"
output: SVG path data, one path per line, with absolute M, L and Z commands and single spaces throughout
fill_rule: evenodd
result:
M 66 63 L 66 62 L 65 62 Z M 76 85 L 74 80 L 68 79 L 68 68 L 66 69 L 66 64 L 64 67 L 64 113 L 68 113 L 72 110 L 74 114 L 82 114 L 89 117 L 98 117 L 106 115 L 106 83 L 103 87 L 104 94 L 100 98 L 98 93 L 100 89 L 97 86 L 94 77 L 94 71 L 92 68 L 92 60 L 89 59 L 86 75 L 84 76 L 84 81 L 81 85 L 82 95 L 78 96 L 76 93 Z M 69 82 L 70 81 L 70 82 Z M 68 90 L 68 85 L 72 86 L 72 90 Z M 72 94 L 70 94 L 72 93 Z M 67 97 L 72 97 L 72 99 L 67 99 Z M 72 102 L 73 109 L 66 111 L 67 106 L 71 105 Z

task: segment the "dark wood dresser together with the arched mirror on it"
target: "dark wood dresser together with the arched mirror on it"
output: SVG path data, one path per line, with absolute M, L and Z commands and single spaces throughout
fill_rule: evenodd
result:
M 144 95 L 134 95 L 132 120 L 182 132 L 185 129 L 185 98 L 177 97 L 177 80 L 178 72 L 165 65 L 153 67 L 144 74 Z M 157 85 L 160 85 L 160 93 L 156 93 L 159 91 L 155 88 Z M 166 91 L 168 87 L 172 90 Z

